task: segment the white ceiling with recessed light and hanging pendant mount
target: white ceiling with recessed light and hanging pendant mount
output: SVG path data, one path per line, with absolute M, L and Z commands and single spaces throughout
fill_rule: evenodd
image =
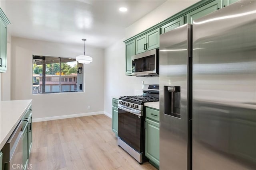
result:
M 12 36 L 105 48 L 166 0 L 7 0 Z M 128 8 L 125 13 L 120 7 Z

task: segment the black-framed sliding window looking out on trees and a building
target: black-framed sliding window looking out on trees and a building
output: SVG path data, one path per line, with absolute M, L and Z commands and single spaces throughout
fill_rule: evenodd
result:
M 82 66 L 75 59 L 33 55 L 32 93 L 83 92 L 83 74 L 77 74 Z

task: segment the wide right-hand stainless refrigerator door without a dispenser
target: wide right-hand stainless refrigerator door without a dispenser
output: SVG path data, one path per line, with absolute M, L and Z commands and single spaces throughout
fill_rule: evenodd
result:
M 193 24 L 194 170 L 256 168 L 256 1 Z

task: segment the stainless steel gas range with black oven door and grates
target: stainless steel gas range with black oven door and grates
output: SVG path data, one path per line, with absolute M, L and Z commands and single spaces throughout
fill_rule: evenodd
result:
M 145 156 L 145 102 L 159 101 L 159 85 L 143 85 L 142 96 L 121 96 L 118 100 L 118 145 L 139 163 Z

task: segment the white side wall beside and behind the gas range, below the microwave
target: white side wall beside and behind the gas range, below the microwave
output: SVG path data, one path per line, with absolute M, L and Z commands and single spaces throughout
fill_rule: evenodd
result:
M 147 78 L 125 75 L 125 44 L 124 39 L 105 49 L 105 94 L 104 110 L 112 114 L 112 98 L 142 94 L 144 84 L 159 84 L 159 78 Z

